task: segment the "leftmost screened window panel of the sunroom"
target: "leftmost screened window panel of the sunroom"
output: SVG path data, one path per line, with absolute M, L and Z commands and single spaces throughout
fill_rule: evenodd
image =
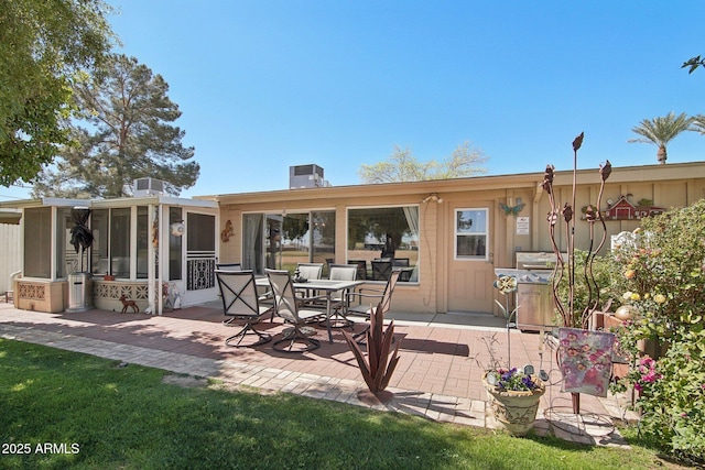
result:
M 48 278 L 52 270 L 52 208 L 24 209 L 24 276 Z

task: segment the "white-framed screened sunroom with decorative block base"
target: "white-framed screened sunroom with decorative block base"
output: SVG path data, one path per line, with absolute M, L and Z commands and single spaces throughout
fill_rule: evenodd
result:
M 216 203 L 150 195 L 33 199 L 15 206 L 23 212 L 18 308 L 120 311 L 124 295 L 141 311 L 159 314 L 217 295 Z M 93 233 L 86 250 L 72 244 L 77 212 L 87 215 Z

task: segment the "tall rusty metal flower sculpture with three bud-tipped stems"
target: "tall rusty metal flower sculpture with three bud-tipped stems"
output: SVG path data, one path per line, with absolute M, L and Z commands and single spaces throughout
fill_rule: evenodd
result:
M 600 216 L 599 207 L 603 199 L 603 193 L 605 190 L 605 182 L 609 177 L 611 173 L 611 164 L 609 161 L 605 162 L 605 165 L 600 165 L 599 175 L 600 175 L 600 188 L 597 196 L 597 205 L 594 207 L 593 205 L 588 205 L 585 219 L 589 227 L 589 247 L 587 251 L 587 259 L 585 260 L 585 266 L 583 270 L 583 276 L 585 278 L 585 284 L 588 287 L 588 298 L 585 306 L 585 309 L 582 313 L 575 313 L 574 298 L 575 298 L 575 193 L 577 187 L 577 151 L 583 145 L 583 138 L 585 136 L 584 132 L 581 132 L 578 136 L 573 141 L 573 193 L 571 203 L 565 203 L 563 208 L 558 210 L 555 201 L 555 194 L 553 190 L 553 177 L 554 177 L 554 166 L 546 165 L 546 170 L 544 173 L 544 178 L 542 183 L 543 190 L 549 195 L 549 201 L 551 204 L 551 211 L 549 212 L 547 222 L 549 222 L 549 234 L 551 238 L 551 245 L 553 248 L 553 252 L 555 253 L 556 264 L 553 267 L 552 277 L 552 287 L 553 287 L 553 299 L 555 303 L 555 307 L 561 316 L 561 320 L 564 327 L 568 328 L 582 328 L 587 329 L 589 317 L 594 311 L 597 311 L 599 306 L 599 286 L 597 285 L 597 281 L 595 281 L 595 276 L 593 274 L 593 261 L 595 255 L 601 250 L 605 241 L 607 239 L 607 227 L 605 225 L 605 220 Z M 558 217 L 562 217 L 565 222 L 565 236 L 567 240 L 567 260 L 563 260 L 561 254 L 561 250 L 555 241 L 555 230 L 556 225 L 558 223 Z M 603 226 L 603 237 L 600 238 L 597 247 L 595 247 L 595 222 L 600 222 Z M 566 266 L 567 262 L 567 266 Z M 568 281 L 568 296 L 567 296 L 567 305 L 561 300 L 558 295 L 558 286 L 561 281 L 563 280 L 564 271 L 567 272 L 567 281 Z M 606 307 L 607 308 L 607 307 Z M 572 393 L 573 401 L 573 412 L 575 414 L 579 413 L 581 409 L 581 397 L 577 393 Z

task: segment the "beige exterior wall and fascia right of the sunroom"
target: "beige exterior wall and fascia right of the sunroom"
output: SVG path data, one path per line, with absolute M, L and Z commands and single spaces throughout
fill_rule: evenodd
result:
M 576 249 L 589 247 L 589 227 L 582 220 L 582 208 L 595 205 L 600 187 L 598 170 L 578 171 L 576 174 L 576 205 L 578 219 L 575 229 Z M 220 262 L 240 262 L 242 244 L 242 215 L 246 212 L 281 214 L 308 210 L 336 211 L 336 262 L 346 261 L 347 209 L 354 207 L 380 207 L 417 205 L 420 217 L 420 282 L 399 284 L 394 293 L 392 309 L 410 313 L 445 313 L 448 298 L 459 288 L 454 275 L 454 230 L 455 211 L 458 207 L 489 207 L 490 209 L 490 267 L 514 266 L 516 251 L 551 252 L 549 225 L 549 197 L 541 188 L 543 172 L 486 176 L 440 182 L 394 183 L 380 185 L 340 186 L 327 188 L 305 188 L 267 193 L 232 194 L 208 197 L 220 204 L 220 230 L 228 220 L 234 233 L 228 242 L 220 242 Z M 572 199 L 573 172 L 556 172 L 554 189 L 556 206 Z M 442 204 L 422 200 L 437 193 Z M 651 199 L 654 206 L 669 209 L 683 207 L 705 197 L 705 163 L 649 165 L 614 168 L 603 195 L 600 211 L 607 209 L 607 200 L 616 201 L 621 195 L 630 195 L 629 200 Z M 529 233 L 517 233 L 517 217 L 506 215 L 500 203 L 524 207 L 518 214 L 529 217 Z M 606 242 L 601 253 L 610 245 L 610 236 L 631 231 L 639 227 L 639 220 L 607 220 Z M 595 223 L 595 245 L 603 237 L 601 223 Z M 556 229 L 556 241 L 561 250 L 567 249 L 564 226 Z M 478 269 L 487 266 L 477 265 Z M 485 282 L 485 295 L 496 298 L 492 280 Z M 475 281 L 476 282 L 476 281 Z M 470 287 L 470 286 L 466 286 Z M 473 285 L 473 288 L 476 286 Z M 494 304 L 494 303 L 491 303 Z M 468 305 L 467 311 L 474 306 Z M 496 315 L 497 308 L 492 309 Z

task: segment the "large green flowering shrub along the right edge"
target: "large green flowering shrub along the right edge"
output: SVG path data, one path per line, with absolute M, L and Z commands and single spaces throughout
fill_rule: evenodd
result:
M 638 311 L 616 330 L 633 361 L 614 389 L 640 392 L 643 434 L 705 460 L 705 200 L 642 223 L 614 258 L 611 298 Z

